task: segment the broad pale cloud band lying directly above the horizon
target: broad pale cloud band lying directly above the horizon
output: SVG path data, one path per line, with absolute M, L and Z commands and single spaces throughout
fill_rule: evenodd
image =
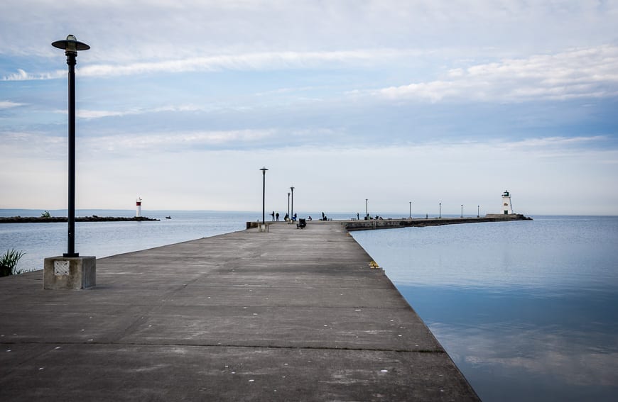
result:
M 517 194 L 518 210 L 527 214 L 617 213 L 613 184 L 618 164 L 608 161 L 618 160 L 618 153 L 603 149 L 607 138 L 391 147 L 217 147 L 241 140 L 272 142 L 280 134 L 277 130 L 224 130 L 77 138 L 80 208 L 119 208 L 121 195 L 134 194 L 139 186 L 141 194 L 149 194 L 151 208 L 217 205 L 251 211 L 261 205 L 256 174 L 266 165 L 270 209 L 283 208 L 278 203 L 286 201 L 286 187 L 294 185 L 299 211 L 356 211 L 364 209 L 364 199 L 370 198 L 374 211 L 380 213 L 407 213 L 410 199 L 416 211 L 437 212 L 441 199 L 443 213 L 449 212 L 448 203 L 456 207 L 449 213 L 455 213 L 460 203 L 493 206 L 496 191 L 509 189 Z M 0 152 L 7 155 L 0 160 L 0 170 L 11 172 L 2 177 L 3 185 L 23 189 L 3 197 L 3 206 L 39 208 L 34 203 L 40 200 L 28 199 L 26 189 L 49 183 L 11 167 L 27 164 L 35 172 L 55 166 L 65 172 L 66 138 L 3 134 Z M 57 176 L 55 185 L 62 187 L 65 175 Z M 195 183 L 207 185 L 196 187 Z M 240 198 L 239 189 L 243 189 Z M 556 205 L 555 199 L 570 202 Z M 61 207 L 63 193 L 47 194 L 45 202 Z

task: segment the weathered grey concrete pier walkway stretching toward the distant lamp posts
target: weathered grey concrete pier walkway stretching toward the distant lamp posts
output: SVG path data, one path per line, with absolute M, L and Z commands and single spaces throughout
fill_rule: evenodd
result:
M 477 401 L 370 262 L 276 223 L 98 259 L 90 290 L 2 278 L 0 400 Z

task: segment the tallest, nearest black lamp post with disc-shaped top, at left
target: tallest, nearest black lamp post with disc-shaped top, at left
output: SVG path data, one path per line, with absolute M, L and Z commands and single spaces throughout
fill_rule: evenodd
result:
M 75 252 L 75 58 L 77 50 L 88 50 L 90 46 L 78 42 L 74 35 L 68 35 L 65 40 L 56 40 L 54 48 L 65 50 L 67 65 L 69 65 L 69 229 L 67 252 L 63 257 L 79 257 Z

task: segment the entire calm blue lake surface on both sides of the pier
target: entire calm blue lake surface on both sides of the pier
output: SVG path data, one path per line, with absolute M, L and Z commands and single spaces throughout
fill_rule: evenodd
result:
M 0 210 L 0 216 L 40 212 Z M 93 214 L 134 211 L 76 213 Z M 244 230 L 247 220 L 261 218 L 254 212 L 143 215 L 161 221 L 76 223 L 76 251 L 105 257 Z M 483 401 L 616 401 L 618 217 L 534 218 L 352 235 Z M 0 252 L 24 250 L 21 269 L 42 269 L 43 258 L 66 252 L 66 238 L 66 223 L 0 224 Z

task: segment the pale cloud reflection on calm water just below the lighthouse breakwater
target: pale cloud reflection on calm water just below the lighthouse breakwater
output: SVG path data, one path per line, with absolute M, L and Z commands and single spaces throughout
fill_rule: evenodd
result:
M 398 286 L 605 289 L 618 285 L 614 218 L 443 225 L 353 233 Z

